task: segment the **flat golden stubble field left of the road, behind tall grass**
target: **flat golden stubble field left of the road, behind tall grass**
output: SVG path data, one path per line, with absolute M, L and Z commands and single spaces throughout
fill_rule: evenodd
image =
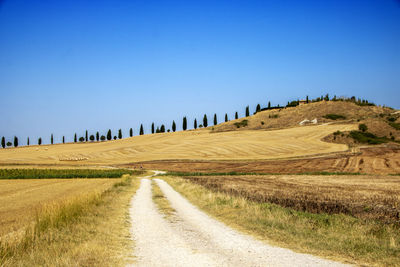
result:
M 116 179 L 0 180 L 0 236 L 29 224 L 43 205 L 102 192 Z

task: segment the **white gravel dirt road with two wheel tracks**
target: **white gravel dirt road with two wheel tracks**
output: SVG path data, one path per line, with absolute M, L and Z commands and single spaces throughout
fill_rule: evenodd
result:
M 175 219 L 167 220 L 153 203 L 147 178 L 141 180 L 130 208 L 137 266 L 343 266 L 243 235 L 155 179 L 176 210 Z

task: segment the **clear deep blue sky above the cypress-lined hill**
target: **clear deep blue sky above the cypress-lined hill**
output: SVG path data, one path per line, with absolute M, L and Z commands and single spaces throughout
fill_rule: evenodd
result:
M 325 93 L 400 108 L 400 2 L 0 0 L 0 92 L 22 144 Z

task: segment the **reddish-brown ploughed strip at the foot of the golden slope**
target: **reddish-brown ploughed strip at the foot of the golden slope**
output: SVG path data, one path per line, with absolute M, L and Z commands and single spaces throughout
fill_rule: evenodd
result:
M 400 173 L 400 147 L 380 146 L 363 148 L 359 153 L 342 153 L 323 157 L 289 160 L 255 161 L 146 161 L 128 164 L 145 169 L 179 172 L 256 172 L 256 173 L 307 173 L 351 172 L 365 174 Z

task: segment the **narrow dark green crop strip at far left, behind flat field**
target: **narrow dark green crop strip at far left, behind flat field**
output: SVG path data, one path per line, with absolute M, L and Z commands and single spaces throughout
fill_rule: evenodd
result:
M 142 171 L 124 169 L 0 169 L 0 179 L 121 178 L 124 174 L 142 173 Z

